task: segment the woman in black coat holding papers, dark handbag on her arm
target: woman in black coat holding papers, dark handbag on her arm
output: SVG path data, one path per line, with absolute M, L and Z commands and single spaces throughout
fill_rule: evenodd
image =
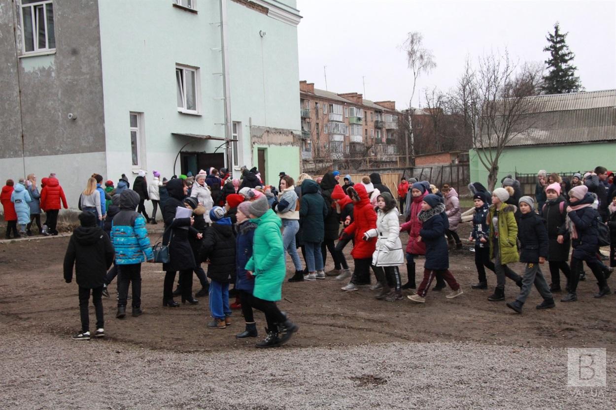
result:
M 163 306 L 178 307 L 179 303 L 173 300 L 173 282 L 176 271 L 180 271 L 180 286 L 182 288 L 182 302 L 198 303 L 192 297 L 192 272 L 195 267 L 195 256 L 188 241 L 189 228 L 193 219 L 176 218 L 177 207 L 184 206 L 184 198 L 188 187 L 184 180 L 172 179 L 167 183 L 169 199 L 163 208 L 164 235 L 163 243 L 169 244 L 169 263 L 163 263 L 164 275 Z

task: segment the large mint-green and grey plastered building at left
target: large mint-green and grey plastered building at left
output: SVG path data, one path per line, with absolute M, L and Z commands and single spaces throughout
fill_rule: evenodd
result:
M 0 174 L 301 169 L 294 0 L 0 0 Z

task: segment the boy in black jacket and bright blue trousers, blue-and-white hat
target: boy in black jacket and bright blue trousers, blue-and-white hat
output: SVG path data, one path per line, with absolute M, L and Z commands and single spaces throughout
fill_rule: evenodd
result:
M 212 226 L 205 233 L 201 246 L 201 260 L 209 260 L 209 311 L 214 318 L 208 328 L 224 329 L 231 324 L 229 283 L 235 274 L 235 235 L 231 219 L 225 210 L 214 206 L 209 211 Z

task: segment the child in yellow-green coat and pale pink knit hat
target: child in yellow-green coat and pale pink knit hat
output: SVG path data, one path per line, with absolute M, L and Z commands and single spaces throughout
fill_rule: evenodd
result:
M 490 302 L 505 300 L 505 276 L 522 288 L 522 277 L 507 266 L 520 260 L 517 254 L 516 206 L 505 203 L 513 194 L 513 188 L 496 188 L 492 193 L 492 205 L 485 222 L 490 225 L 490 259 L 494 259 L 496 289 L 488 296 Z

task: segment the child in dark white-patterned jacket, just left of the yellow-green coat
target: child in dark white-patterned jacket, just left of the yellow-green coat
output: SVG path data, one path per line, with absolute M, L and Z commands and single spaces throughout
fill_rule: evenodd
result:
M 472 232 L 469 241 L 475 242 L 475 266 L 479 275 L 479 283 L 471 285 L 472 289 L 487 289 L 488 279 L 485 268 L 494 271 L 494 263 L 490 260 L 490 225 L 485 218 L 488 215 L 488 201 L 485 193 L 477 191 L 472 196 L 475 203 L 475 213 L 472 217 Z

